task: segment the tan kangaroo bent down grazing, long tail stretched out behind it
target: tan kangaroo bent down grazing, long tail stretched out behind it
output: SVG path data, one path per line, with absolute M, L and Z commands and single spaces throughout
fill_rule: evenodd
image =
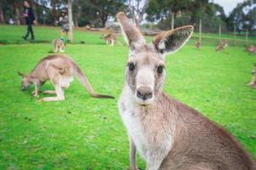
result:
M 34 84 L 35 90 L 32 92 L 34 96 L 38 96 L 38 89 L 47 80 L 53 83 L 55 91 L 46 90 L 43 94 L 56 94 L 56 97 L 45 97 L 42 101 L 59 101 L 64 100 L 64 89 L 69 87 L 69 83 L 73 81 L 73 77 L 77 77 L 83 84 L 84 88 L 95 98 L 111 98 L 109 95 L 96 94 L 90 86 L 87 77 L 79 68 L 79 65 L 73 62 L 66 54 L 52 54 L 38 62 L 38 65 L 28 74 L 21 72 L 18 74 L 22 77 L 21 89 L 26 90 L 31 84 Z

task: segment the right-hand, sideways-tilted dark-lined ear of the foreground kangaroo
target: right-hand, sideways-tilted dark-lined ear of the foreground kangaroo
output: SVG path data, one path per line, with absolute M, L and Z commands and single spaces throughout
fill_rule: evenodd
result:
M 164 31 L 156 35 L 152 41 L 156 50 L 161 54 L 173 54 L 188 42 L 194 26 L 183 26 L 172 31 Z

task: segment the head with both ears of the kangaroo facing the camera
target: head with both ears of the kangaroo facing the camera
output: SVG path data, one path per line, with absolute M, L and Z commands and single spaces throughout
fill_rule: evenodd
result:
M 194 27 L 183 26 L 161 32 L 146 43 L 141 31 L 124 13 L 117 14 L 130 54 L 125 68 L 125 81 L 138 105 L 149 105 L 162 90 L 165 77 L 165 55 L 177 52 L 191 37 Z

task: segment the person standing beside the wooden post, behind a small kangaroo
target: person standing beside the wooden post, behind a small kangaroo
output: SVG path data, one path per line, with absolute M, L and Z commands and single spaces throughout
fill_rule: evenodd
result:
M 70 42 L 69 38 L 69 22 L 68 22 L 68 16 L 67 16 L 67 8 L 62 8 L 61 10 L 61 41 L 64 42 L 64 32 L 67 33 L 68 42 Z

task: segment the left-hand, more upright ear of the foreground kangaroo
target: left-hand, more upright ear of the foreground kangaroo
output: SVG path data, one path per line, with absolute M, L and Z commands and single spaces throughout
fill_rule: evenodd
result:
M 127 42 L 131 48 L 141 48 L 146 44 L 141 31 L 138 30 L 137 26 L 131 23 L 123 12 L 119 12 L 116 15 L 116 18 L 119 21 L 119 25 L 125 37 L 125 42 Z

